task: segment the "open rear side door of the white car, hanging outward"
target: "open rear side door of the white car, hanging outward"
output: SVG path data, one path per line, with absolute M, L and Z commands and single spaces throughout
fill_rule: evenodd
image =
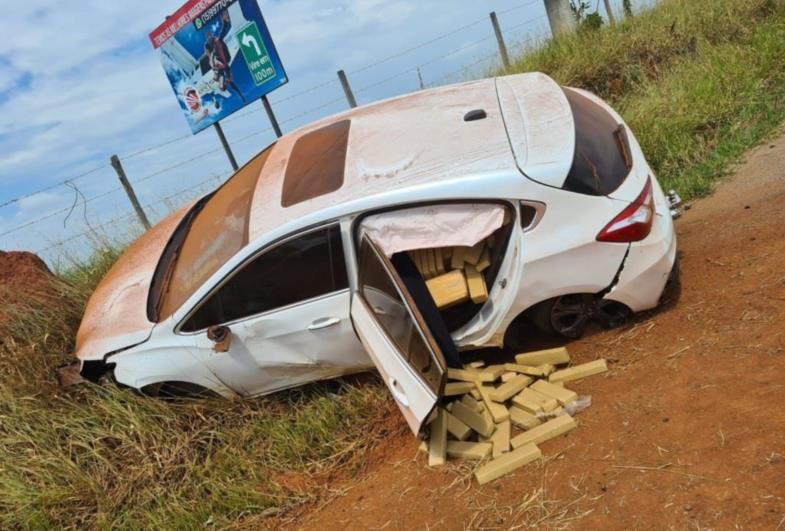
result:
M 355 330 L 417 435 L 442 394 L 444 357 L 390 260 L 365 235 L 352 294 Z

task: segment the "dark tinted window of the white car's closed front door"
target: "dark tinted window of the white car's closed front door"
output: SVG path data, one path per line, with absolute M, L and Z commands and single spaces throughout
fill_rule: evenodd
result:
M 210 295 L 181 330 L 237 321 L 348 287 L 341 232 L 333 225 L 254 258 Z

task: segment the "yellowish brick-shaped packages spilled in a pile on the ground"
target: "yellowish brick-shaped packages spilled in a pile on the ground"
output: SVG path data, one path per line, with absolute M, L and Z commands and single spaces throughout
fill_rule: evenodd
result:
M 542 456 L 538 444 L 577 426 L 578 395 L 564 386 L 607 370 L 605 360 L 574 365 L 565 348 L 515 356 L 515 363 L 483 362 L 448 369 L 444 396 L 430 425 L 430 441 L 423 443 L 428 464 L 444 464 L 447 457 L 491 459 L 474 473 L 482 485 Z

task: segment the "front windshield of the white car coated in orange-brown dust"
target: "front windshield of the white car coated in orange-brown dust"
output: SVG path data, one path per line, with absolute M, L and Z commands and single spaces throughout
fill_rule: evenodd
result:
M 165 267 L 157 297 L 157 321 L 180 308 L 227 260 L 248 243 L 248 218 L 256 182 L 272 151 L 268 147 L 201 204 L 190 217 L 182 244 Z

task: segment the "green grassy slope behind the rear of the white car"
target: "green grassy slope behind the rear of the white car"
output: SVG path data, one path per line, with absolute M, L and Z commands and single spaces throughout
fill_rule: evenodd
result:
M 783 57 L 781 1 L 670 0 L 550 42 L 508 72 L 542 71 L 606 98 L 663 187 L 691 199 L 785 119 Z

